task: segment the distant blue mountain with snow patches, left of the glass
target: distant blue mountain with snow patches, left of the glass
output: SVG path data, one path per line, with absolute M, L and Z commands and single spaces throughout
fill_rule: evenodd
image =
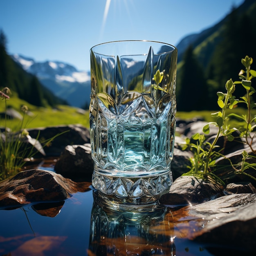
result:
M 61 61 L 36 62 L 33 58 L 18 54 L 11 56 L 26 72 L 35 75 L 39 81 L 57 97 L 75 107 L 90 103 L 90 72 L 78 71 Z

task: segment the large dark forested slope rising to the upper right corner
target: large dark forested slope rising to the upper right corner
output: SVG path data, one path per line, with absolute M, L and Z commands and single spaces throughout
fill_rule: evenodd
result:
M 177 46 L 177 110 L 214 110 L 216 92 L 225 91 L 228 79 L 239 80 L 242 58 L 252 57 L 256 69 L 256 1 L 245 0 L 218 24 L 190 38 L 180 52 Z M 234 95 L 244 93 L 237 85 Z

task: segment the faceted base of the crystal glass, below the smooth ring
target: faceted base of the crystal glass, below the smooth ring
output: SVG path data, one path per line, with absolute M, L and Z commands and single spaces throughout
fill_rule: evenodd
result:
M 120 177 L 106 175 L 96 168 L 92 175 L 92 186 L 101 193 L 112 196 L 115 202 L 124 204 L 150 204 L 170 188 L 173 183 L 171 170 L 143 177 Z

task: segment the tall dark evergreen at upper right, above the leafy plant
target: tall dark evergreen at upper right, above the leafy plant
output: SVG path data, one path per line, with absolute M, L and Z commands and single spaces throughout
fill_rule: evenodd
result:
M 239 17 L 237 9 L 233 9 L 225 23 L 222 40 L 216 46 L 209 62 L 207 77 L 218 83 L 219 90 L 225 87 L 227 80 L 238 80 L 238 73 L 242 68 L 241 59 L 246 55 L 254 58 L 255 45 L 255 32 L 249 16 L 244 13 Z M 240 97 L 243 94 L 245 89 L 237 85 L 235 95 Z

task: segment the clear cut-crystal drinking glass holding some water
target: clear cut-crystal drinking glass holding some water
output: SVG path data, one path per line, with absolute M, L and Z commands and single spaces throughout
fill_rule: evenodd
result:
M 90 49 L 92 186 L 126 203 L 154 202 L 173 182 L 177 49 L 115 41 Z

